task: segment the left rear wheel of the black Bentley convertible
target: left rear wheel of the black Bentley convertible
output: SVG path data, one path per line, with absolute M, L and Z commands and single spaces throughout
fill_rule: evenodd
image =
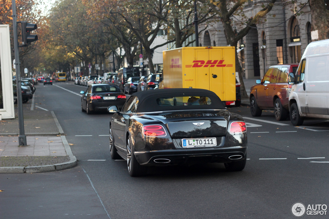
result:
M 147 167 L 140 165 L 134 155 L 134 147 L 132 147 L 131 137 L 127 139 L 127 166 L 129 175 L 132 177 L 145 176 Z

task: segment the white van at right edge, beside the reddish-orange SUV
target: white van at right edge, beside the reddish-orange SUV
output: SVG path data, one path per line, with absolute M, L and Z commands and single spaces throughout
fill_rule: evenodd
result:
M 302 125 L 304 117 L 329 119 L 329 39 L 308 44 L 294 79 L 289 76 L 294 81 L 289 95 L 292 125 Z

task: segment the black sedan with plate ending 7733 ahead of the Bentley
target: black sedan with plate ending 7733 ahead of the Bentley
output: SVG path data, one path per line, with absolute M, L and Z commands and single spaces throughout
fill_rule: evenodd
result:
M 90 114 L 92 111 L 106 110 L 111 105 L 122 107 L 126 102 L 126 95 L 117 85 L 94 84 L 90 85 L 81 97 L 81 110 Z

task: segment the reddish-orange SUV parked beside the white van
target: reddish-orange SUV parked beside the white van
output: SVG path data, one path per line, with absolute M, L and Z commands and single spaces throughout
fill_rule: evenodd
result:
M 276 120 L 289 116 L 289 73 L 295 73 L 298 63 L 270 66 L 263 79 L 256 80 L 250 88 L 250 111 L 252 116 L 261 116 L 263 109 L 274 109 Z

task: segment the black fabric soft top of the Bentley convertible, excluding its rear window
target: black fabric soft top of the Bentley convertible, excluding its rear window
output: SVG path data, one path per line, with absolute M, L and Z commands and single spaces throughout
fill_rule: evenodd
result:
M 132 94 L 139 99 L 136 112 L 156 112 L 171 110 L 189 110 L 189 109 L 225 109 L 219 97 L 210 90 L 196 88 L 168 88 L 145 90 Z M 211 99 L 211 105 L 191 105 L 191 106 L 159 106 L 156 102 L 158 98 L 171 96 L 206 96 Z

